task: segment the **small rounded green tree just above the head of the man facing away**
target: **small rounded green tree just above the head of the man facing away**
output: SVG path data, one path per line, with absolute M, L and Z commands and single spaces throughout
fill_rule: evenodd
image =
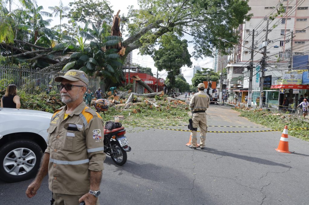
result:
M 194 87 L 197 87 L 197 85 L 203 81 L 210 80 L 215 82 L 219 80 L 219 73 L 214 72 L 210 68 L 202 68 L 201 71 L 197 71 L 194 77 L 191 79 L 192 85 Z

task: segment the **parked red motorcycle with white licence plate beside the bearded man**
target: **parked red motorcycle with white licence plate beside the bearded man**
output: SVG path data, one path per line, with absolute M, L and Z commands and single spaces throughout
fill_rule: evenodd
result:
M 128 144 L 124 127 L 112 130 L 104 128 L 104 152 L 112 158 L 116 165 L 122 166 L 127 161 L 127 152 L 131 151 Z

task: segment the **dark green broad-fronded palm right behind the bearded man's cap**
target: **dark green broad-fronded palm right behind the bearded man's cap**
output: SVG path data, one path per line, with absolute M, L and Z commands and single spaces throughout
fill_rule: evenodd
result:
M 70 62 L 63 67 L 63 71 L 79 69 L 91 76 L 101 76 L 104 78 L 104 81 L 121 83 L 121 80 L 124 79 L 120 55 L 116 53 L 118 51 L 117 49 L 107 48 L 117 45 L 121 41 L 121 37 L 107 36 L 108 33 L 105 24 L 100 30 L 92 24 L 92 29 L 87 29 L 87 31 L 83 30 L 81 34 L 85 37 L 84 41 L 83 38 L 75 38 L 75 43 L 78 42 L 79 46 L 70 44 L 64 49 L 78 47 L 75 50 L 77 52 L 74 52 L 70 56 Z M 90 42 L 82 48 L 86 40 Z M 62 49 L 63 46 L 64 44 L 62 44 Z

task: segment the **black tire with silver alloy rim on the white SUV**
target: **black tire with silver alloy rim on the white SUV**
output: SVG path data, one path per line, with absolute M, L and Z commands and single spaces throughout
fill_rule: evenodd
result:
M 0 179 L 19 182 L 35 177 L 42 156 L 42 149 L 33 141 L 14 140 L 6 143 L 0 148 Z

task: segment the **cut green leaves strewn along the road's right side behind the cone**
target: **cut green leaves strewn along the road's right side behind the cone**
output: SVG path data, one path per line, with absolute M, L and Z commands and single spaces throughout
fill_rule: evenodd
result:
M 258 123 L 260 125 L 265 125 L 271 129 L 282 129 L 284 125 L 288 126 L 289 135 L 293 137 L 297 137 L 306 141 L 309 141 L 309 125 L 308 121 L 304 121 L 303 118 L 287 115 L 286 118 L 282 119 L 281 115 L 273 115 L 273 112 L 268 112 L 266 110 L 262 110 L 259 112 L 253 112 L 251 110 L 241 110 L 241 109 L 233 109 L 241 114 L 239 116 L 246 117 L 250 121 Z M 303 130 L 290 130 L 292 128 L 308 128 Z

